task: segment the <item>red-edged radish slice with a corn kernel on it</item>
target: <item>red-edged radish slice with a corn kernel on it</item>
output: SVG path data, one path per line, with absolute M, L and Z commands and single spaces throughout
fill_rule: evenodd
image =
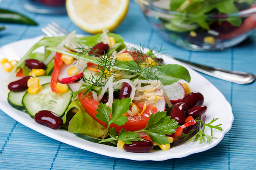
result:
M 75 76 L 68 75 L 67 71 L 71 67 L 76 67 L 79 70 L 77 75 L 75 75 Z M 58 76 L 58 81 L 60 81 L 60 83 L 62 83 L 62 84 L 71 83 L 72 81 L 75 81 L 75 80 L 83 77 L 83 70 L 86 67 L 87 67 L 87 61 L 83 61 L 83 60 L 79 60 L 79 61 L 75 60 L 75 61 L 73 61 L 73 63 L 71 65 L 63 64 L 60 67 L 60 75 Z

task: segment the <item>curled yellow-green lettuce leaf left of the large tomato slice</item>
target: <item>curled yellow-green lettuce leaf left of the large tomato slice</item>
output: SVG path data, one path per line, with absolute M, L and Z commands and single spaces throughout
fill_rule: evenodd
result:
M 77 112 L 69 122 L 68 131 L 70 133 L 81 133 L 83 135 L 95 138 L 104 135 L 106 128 L 96 122 L 96 120 L 94 120 L 90 115 L 88 115 L 78 100 L 74 100 L 68 106 L 68 109 L 62 118 L 64 123 L 66 122 L 68 111 L 73 107 L 79 109 L 79 112 Z

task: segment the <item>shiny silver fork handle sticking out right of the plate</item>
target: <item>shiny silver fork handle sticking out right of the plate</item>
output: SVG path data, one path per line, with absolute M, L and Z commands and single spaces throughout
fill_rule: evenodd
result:
M 214 67 L 208 67 L 205 65 L 196 64 L 196 63 L 191 63 L 189 61 L 184 61 L 182 59 L 177 59 L 177 58 L 174 58 L 174 59 L 180 61 L 181 63 L 186 64 L 188 67 L 192 68 L 193 70 L 202 72 L 204 74 L 208 74 L 210 76 L 213 76 L 219 79 L 230 81 L 233 83 L 248 84 L 248 83 L 252 83 L 255 80 L 255 76 L 247 72 L 223 70 L 221 68 L 214 68 Z

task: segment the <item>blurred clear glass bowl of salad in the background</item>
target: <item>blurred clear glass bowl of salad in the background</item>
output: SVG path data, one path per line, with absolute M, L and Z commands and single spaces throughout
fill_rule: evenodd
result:
M 224 50 L 245 40 L 256 26 L 254 0 L 134 1 L 164 39 L 187 50 Z

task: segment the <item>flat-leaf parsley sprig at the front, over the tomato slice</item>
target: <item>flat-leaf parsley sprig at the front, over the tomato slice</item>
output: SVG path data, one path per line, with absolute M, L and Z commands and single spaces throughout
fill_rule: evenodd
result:
M 99 108 L 97 109 L 96 118 L 102 120 L 107 124 L 107 131 L 111 123 L 114 123 L 118 126 L 124 125 L 128 118 L 123 116 L 122 114 L 126 113 L 128 109 L 130 109 L 130 102 L 131 98 L 127 98 L 126 100 L 122 99 L 119 101 L 118 99 L 115 100 L 112 104 L 112 114 L 111 109 L 107 107 L 105 104 L 101 103 Z M 111 115 L 111 117 L 110 117 Z M 108 142 L 112 140 L 122 140 L 126 144 L 131 144 L 131 141 L 143 140 L 139 137 L 138 132 L 146 132 L 153 142 L 158 144 L 168 144 L 169 141 L 165 137 L 165 134 L 172 134 L 175 133 L 175 130 L 178 126 L 178 122 L 171 119 L 170 116 L 166 116 L 166 111 L 164 112 L 157 112 L 156 114 L 152 114 L 149 117 L 149 122 L 147 126 L 139 131 L 126 131 L 126 129 L 122 129 L 117 136 L 115 128 L 110 129 L 109 139 L 105 139 L 105 135 L 103 136 L 101 142 Z

